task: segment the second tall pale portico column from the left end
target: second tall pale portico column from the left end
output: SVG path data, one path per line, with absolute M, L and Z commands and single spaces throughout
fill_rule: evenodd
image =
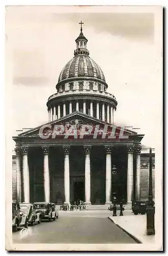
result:
M 23 196 L 24 202 L 30 202 L 30 178 L 29 178 L 29 165 L 28 165 L 28 152 L 29 147 L 21 147 L 22 151 L 22 179 L 23 179 Z

